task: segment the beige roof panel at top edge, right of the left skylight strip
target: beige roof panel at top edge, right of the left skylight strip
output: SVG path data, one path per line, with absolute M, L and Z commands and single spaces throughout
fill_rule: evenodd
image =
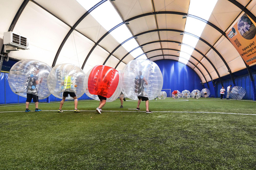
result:
M 154 11 L 151 0 L 115 0 L 113 4 L 124 20 Z

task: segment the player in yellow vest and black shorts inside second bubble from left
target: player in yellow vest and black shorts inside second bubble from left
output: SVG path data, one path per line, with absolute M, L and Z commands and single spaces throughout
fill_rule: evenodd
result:
M 66 100 L 66 97 L 68 97 L 68 95 L 70 95 L 70 97 L 73 97 L 73 99 L 74 99 L 74 105 L 75 105 L 74 112 L 80 112 L 80 110 L 77 109 L 78 100 L 77 100 L 76 93 L 75 93 L 76 85 L 73 85 L 73 84 L 75 84 L 74 83 L 74 81 L 75 81 L 74 72 L 69 73 L 69 74 L 66 73 L 66 76 L 63 79 L 64 79 L 64 81 L 61 82 L 61 84 L 62 84 L 61 90 L 64 92 L 63 92 L 63 98 L 60 102 L 60 107 L 59 107 L 58 112 L 63 112 L 62 106 L 64 104 L 64 101 Z

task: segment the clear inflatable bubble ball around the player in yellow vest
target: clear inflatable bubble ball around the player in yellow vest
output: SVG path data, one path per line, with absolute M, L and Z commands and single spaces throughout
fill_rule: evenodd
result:
M 84 94 L 84 71 L 73 64 L 58 64 L 52 68 L 47 79 L 50 92 L 57 98 L 63 98 L 63 92 L 74 92 L 79 98 Z M 66 97 L 70 100 L 73 97 Z

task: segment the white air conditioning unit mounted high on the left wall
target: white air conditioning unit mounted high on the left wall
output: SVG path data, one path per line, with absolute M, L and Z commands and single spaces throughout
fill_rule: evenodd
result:
M 15 34 L 13 32 L 5 32 L 4 33 L 4 45 L 6 46 L 12 46 L 16 48 L 16 50 L 19 49 L 29 49 L 29 39 L 26 37 L 22 37 L 18 34 Z

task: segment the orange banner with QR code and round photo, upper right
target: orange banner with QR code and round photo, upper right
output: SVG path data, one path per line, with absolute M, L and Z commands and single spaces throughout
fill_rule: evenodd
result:
M 256 62 L 255 25 L 248 15 L 242 13 L 226 34 L 247 65 Z

